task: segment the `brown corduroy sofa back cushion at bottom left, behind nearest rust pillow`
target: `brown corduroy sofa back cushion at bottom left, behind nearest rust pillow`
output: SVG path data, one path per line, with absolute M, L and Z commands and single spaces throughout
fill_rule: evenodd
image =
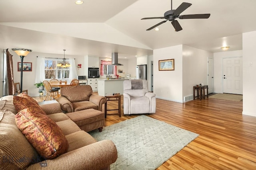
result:
M 40 162 L 40 156 L 18 129 L 14 116 L 8 110 L 0 111 L 0 169 L 25 169 Z

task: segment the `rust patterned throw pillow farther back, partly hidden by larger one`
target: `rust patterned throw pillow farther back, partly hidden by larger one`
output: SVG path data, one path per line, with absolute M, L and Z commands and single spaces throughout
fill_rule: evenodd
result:
M 46 115 L 44 110 L 38 105 L 38 103 L 34 99 L 20 97 L 20 96 L 13 96 L 13 104 L 17 112 L 26 108 L 31 108 L 38 113 Z

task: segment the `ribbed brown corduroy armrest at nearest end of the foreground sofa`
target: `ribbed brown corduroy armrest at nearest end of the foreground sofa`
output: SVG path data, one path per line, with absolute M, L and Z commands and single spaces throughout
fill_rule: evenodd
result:
M 115 144 L 110 140 L 103 140 L 72 150 L 57 158 L 32 164 L 27 169 L 100 170 L 109 167 L 116 159 L 117 150 Z

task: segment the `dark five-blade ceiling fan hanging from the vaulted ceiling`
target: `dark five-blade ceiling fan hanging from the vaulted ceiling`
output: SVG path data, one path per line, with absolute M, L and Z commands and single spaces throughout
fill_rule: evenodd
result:
M 184 10 L 186 10 L 188 7 L 190 7 L 192 4 L 187 3 L 187 2 L 182 2 L 180 6 L 176 10 L 172 10 L 172 0 L 171 0 L 171 10 L 166 11 L 164 13 L 163 17 L 150 17 L 150 18 L 142 18 L 141 20 L 148 20 L 148 19 L 166 19 L 165 21 L 162 21 L 150 28 L 147 29 L 147 31 L 157 27 L 158 25 L 161 25 L 162 23 L 165 23 L 166 21 L 172 21 L 172 25 L 175 29 L 175 31 L 180 31 L 182 30 L 182 27 L 180 26 L 180 23 L 175 20 L 176 18 L 179 19 L 198 19 L 198 18 L 209 18 L 210 14 L 190 14 L 190 15 L 181 15 Z

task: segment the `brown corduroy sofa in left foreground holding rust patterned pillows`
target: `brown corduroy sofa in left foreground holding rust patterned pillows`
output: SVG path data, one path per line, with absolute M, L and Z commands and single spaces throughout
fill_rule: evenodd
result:
M 12 97 L 0 99 L 1 170 L 107 170 L 116 161 L 117 150 L 114 143 L 110 140 L 97 142 L 61 112 L 59 103 L 40 107 L 63 131 L 68 141 L 68 150 L 56 158 L 42 160 L 16 125 L 14 116 L 17 111 Z

